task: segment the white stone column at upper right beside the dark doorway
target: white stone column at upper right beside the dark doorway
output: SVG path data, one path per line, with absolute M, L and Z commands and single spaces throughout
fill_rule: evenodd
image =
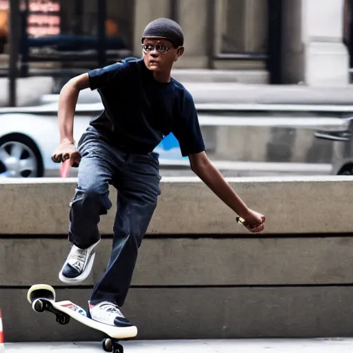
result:
M 349 83 L 343 5 L 343 0 L 283 1 L 283 83 Z

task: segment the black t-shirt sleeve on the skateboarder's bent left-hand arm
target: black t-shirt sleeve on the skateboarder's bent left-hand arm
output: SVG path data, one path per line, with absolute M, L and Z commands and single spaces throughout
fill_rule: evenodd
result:
M 119 79 L 127 67 L 128 63 L 119 61 L 118 63 L 105 66 L 104 68 L 97 68 L 88 71 L 90 89 L 97 90 L 98 88 L 108 87 L 116 79 Z

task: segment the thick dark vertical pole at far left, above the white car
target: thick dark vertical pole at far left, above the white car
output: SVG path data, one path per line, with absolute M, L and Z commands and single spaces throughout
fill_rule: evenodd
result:
M 10 0 L 10 30 L 9 30 L 9 105 L 15 107 L 16 97 L 16 79 L 18 77 L 17 62 L 19 57 L 19 0 Z

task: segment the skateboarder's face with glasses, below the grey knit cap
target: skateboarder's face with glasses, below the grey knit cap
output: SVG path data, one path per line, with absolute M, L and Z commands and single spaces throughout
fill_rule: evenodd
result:
M 151 71 L 168 72 L 172 70 L 174 61 L 183 54 L 183 47 L 174 48 L 168 39 L 143 40 L 143 61 Z

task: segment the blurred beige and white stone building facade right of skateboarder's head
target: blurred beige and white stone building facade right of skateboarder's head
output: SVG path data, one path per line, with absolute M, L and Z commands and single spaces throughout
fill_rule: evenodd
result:
M 169 3 L 168 3 L 169 2 Z M 347 85 L 343 22 L 350 0 L 137 0 L 134 52 L 148 21 L 170 15 L 185 32 L 180 68 L 248 70 L 259 83 Z M 347 26 L 352 26 L 350 18 Z M 353 26 L 352 26 L 353 27 Z M 265 72 L 265 75 L 263 74 Z

